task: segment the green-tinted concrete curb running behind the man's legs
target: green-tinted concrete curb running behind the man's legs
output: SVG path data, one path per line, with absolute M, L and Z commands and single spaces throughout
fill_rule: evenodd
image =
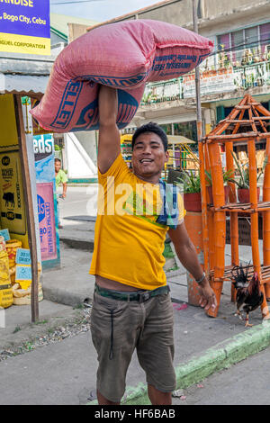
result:
M 270 320 L 265 320 L 261 325 L 247 329 L 245 332 L 226 339 L 214 347 L 204 351 L 201 356 L 195 356 L 186 363 L 176 365 L 176 390 L 187 388 L 194 383 L 227 369 L 248 356 L 253 356 L 259 351 L 270 346 Z M 146 383 L 139 383 L 135 388 L 126 392 L 122 405 L 149 405 Z M 97 401 L 87 405 L 97 405 Z

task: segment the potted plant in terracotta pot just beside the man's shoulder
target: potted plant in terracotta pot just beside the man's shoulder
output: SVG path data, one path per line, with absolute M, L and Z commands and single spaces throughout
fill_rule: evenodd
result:
M 192 171 L 190 173 L 185 171 L 178 177 L 178 181 L 184 185 L 184 209 L 202 211 L 200 174 L 193 175 Z

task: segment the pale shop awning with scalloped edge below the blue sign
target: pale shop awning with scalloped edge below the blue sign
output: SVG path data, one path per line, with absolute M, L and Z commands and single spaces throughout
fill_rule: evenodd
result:
M 40 97 L 45 93 L 48 76 L 0 73 L 0 94 L 23 94 Z

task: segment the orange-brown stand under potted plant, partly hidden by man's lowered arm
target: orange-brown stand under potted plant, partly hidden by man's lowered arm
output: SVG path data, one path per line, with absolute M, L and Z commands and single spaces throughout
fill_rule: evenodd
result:
M 184 216 L 184 225 L 196 249 L 202 270 L 204 270 L 203 242 L 202 242 L 202 213 L 187 211 Z M 199 285 L 193 279 L 193 275 L 186 273 L 188 303 L 200 306 Z

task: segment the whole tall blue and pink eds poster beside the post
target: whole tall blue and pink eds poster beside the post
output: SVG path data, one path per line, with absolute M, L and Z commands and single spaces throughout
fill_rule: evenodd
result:
M 54 141 L 51 134 L 33 137 L 40 225 L 42 267 L 59 264 L 57 198 L 55 193 Z

